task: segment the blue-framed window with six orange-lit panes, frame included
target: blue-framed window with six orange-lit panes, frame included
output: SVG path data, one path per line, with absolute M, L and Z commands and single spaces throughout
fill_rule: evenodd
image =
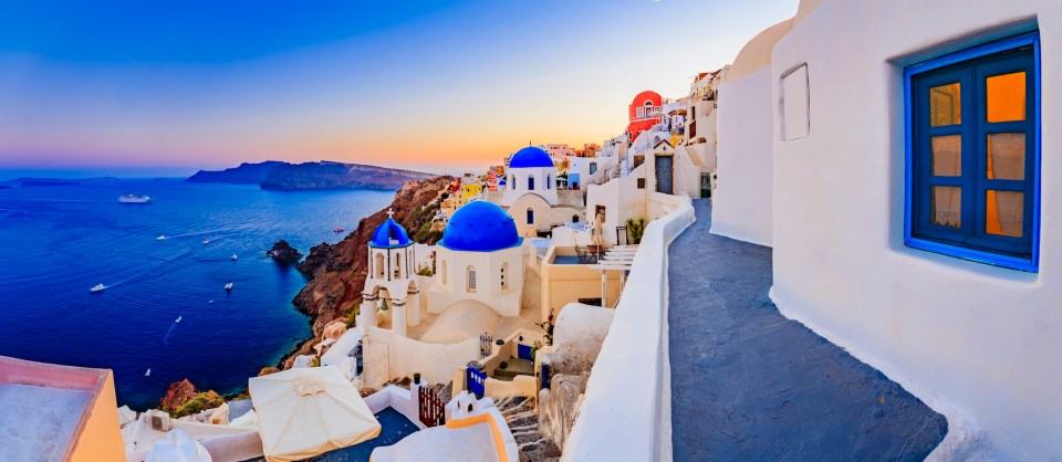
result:
M 904 71 L 906 245 L 1037 272 L 1040 35 Z

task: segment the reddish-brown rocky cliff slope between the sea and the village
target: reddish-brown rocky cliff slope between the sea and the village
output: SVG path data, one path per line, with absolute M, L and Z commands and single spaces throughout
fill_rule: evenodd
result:
M 395 221 L 409 232 L 414 241 L 434 244 L 442 237 L 441 232 L 431 229 L 431 219 L 439 209 L 435 199 L 454 181 L 454 177 L 409 181 L 395 193 L 388 208 L 395 211 Z M 291 367 L 295 356 L 310 354 L 311 347 L 321 342 L 325 325 L 352 316 L 354 308 L 362 303 L 368 241 L 376 227 L 386 219 L 387 208 L 362 219 L 357 229 L 344 240 L 314 246 L 295 266 L 311 277 L 292 303 L 310 316 L 313 338 L 299 345 L 282 360 L 284 368 Z

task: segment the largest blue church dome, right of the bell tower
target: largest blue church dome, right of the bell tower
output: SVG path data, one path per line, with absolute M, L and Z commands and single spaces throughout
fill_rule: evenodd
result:
M 493 252 L 522 242 L 509 213 L 491 202 L 477 200 L 454 212 L 439 245 L 465 252 Z

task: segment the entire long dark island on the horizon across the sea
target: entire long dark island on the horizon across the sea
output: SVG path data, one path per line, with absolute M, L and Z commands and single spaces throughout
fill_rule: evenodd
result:
M 289 164 L 268 160 L 240 164 L 220 171 L 199 170 L 189 182 L 259 185 L 262 189 L 381 189 L 397 190 L 406 181 L 423 181 L 434 174 L 361 164 L 317 161 Z

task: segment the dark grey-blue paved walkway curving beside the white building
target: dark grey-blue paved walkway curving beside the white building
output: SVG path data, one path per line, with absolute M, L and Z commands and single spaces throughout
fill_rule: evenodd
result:
M 675 461 L 925 459 L 944 417 L 783 317 L 771 249 L 710 234 L 710 206 L 694 204 L 668 250 Z

